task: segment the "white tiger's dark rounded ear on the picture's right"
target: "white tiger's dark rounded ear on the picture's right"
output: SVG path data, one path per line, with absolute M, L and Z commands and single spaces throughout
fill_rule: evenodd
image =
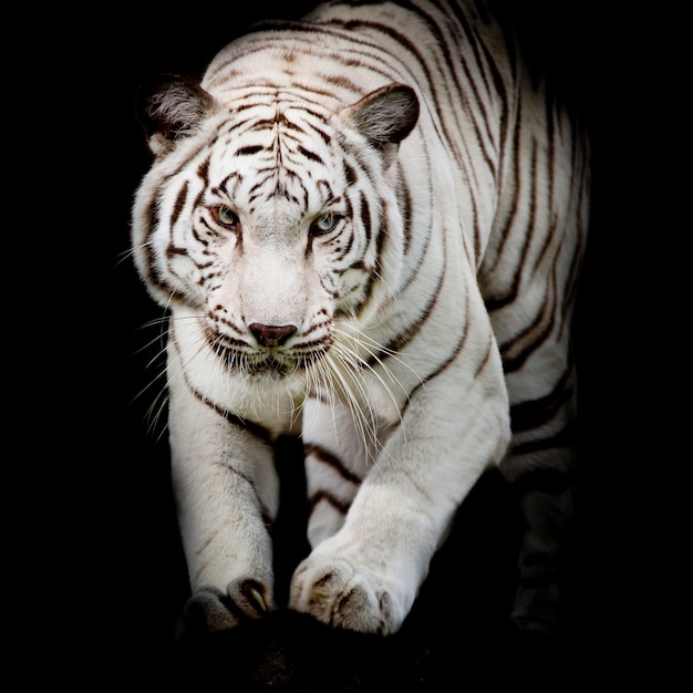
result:
M 411 86 L 389 84 L 366 94 L 343 114 L 369 143 L 381 151 L 387 167 L 400 142 L 418 120 L 418 99 Z

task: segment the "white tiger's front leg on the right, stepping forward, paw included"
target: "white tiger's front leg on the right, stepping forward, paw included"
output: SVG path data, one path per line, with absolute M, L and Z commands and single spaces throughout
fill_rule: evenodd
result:
M 462 373 L 446 373 L 448 382 L 434 377 L 411 399 L 341 527 L 324 523 L 339 528 L 319 538 L 296 570 L 291 608 L 348 630 L 387 635 L 400 629 L 457 507 L 506 449 L 507 396 L 498 361 L 490 361 L 487 377 L 470 381 L 459 366 Z M 339 448 L 325 458 L 334 465 L 338 456 Z M 332 496 L 346 490 L 342 484 Z

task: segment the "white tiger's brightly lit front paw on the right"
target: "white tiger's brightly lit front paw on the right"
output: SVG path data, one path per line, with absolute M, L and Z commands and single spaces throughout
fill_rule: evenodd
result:
M 393 592 L 345 558 L 308 557 L 293 573 L 289 607 L 328 625 L 380 635 L 404 620 Z

